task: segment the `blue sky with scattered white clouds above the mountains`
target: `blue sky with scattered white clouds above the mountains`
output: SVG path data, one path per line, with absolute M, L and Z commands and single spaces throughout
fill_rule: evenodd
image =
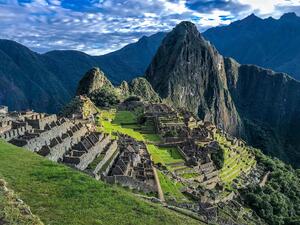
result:
M 251 13 L 300 15 L 300 0 L 0 0 L 0 38 L 44 53 L 71 49 L 103 55 L 182 20 L 200 31 Z

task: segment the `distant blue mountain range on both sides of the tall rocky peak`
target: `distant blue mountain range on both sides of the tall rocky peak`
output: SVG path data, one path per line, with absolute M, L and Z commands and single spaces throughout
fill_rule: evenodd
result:
M 142 37 L 103 56 L 79 51 L 37 54 L 16 42 L 0 40 L 0 104 L 12 110 L 57 112 L 74 96 L 79 80 L 92 67 L 100 67 L 113 84 L 143 75 L 165 36 Z M 294 13 L 278 20 L 252 14 L 228 26 L 211 28 L 203 36 L 224 56 L 300 79 L 300 18 Z

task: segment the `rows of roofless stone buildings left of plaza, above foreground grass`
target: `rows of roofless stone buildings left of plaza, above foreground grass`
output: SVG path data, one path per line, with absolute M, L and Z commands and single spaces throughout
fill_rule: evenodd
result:
M 157 192 L 154 168 L 142 142 L 97 132 L 89 120 L 0 107 L 0 138 L 52 161 L 85 171 L 96 179 Z

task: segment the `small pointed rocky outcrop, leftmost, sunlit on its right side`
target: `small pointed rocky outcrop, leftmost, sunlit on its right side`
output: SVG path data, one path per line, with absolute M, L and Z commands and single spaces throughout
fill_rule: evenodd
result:
M 88 95 L 102 88 L 113 88 L 111 82 L 99 68 L 89 70 L 79 81 L 77 95 Z

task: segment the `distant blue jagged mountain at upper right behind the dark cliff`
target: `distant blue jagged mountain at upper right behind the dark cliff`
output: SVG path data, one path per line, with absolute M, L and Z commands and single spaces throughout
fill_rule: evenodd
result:
M 211 28 L 203 36 L 224 56 L 300 79 L 300 17 L 295 13 L 278 20 L 252 14 L 228 26 Z

